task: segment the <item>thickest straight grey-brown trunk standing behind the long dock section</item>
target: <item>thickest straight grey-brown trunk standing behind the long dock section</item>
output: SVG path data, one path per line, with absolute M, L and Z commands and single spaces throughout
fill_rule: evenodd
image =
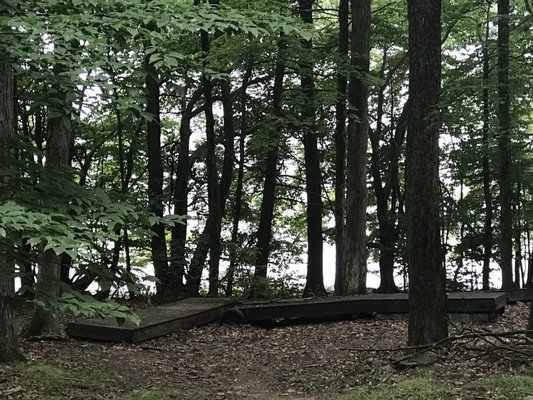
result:
M 339 293 L 366 292 L 366 164 L 368 150 L 368 81 L 370 62 L 370 0 L 352 0 L 350 84 L 348 87 L 348 152 L 346 232 Z

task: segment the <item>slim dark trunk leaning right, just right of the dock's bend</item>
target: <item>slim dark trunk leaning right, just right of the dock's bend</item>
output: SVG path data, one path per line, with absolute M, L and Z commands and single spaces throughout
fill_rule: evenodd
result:
M 283 49 L 285 40 L 280 38 L 278 43 L 278 59 L 274 71 L 274 89 L 272 95 L 273 129 L 268 132 L 270 143 L 266 154 L 265 181 L 263 183 L 263 196 L 257 228 L 257 244 L 255 246 L 255 271 L 252 297 L 264 295 L 268 259 L 270 256 L 270 241 L 272 240 L 272 219 L 274 217 L 274 203 L 276 200 L 276 179 L 278 177 L 278 153 L 282 140 L 282 94 L 283 80 L 285 77 L 285 64 L 283 62 Z

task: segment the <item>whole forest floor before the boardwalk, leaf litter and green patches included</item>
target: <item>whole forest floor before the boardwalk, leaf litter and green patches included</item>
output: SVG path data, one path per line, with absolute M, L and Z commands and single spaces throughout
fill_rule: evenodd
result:
M 508 306 L 494 322 L 452 324 L 450 334 L 522 330 L 527 313 L 523 304 Z M 439 360 L 431 366 L 394 367 L 404 353 L 385 349 L 405 346 L 406 338 L 405 320 L 364 319 L 269 329 L 209 325 L 138 344 L 27 340 L 28 363 L 0 365 L 0 399 L 533 396 L 533 344 L 523 336 L 453 341 L 435 349 Z

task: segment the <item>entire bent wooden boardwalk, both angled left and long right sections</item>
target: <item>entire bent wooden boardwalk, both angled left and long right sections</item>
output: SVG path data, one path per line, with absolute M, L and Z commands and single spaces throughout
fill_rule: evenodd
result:
M 452 318 L 489 321 L 503 313 L 508 301 L 524 301 L 532 296 L 531 290 L 450 293 L 447 307 Z M 131 322 L 119 326 L 113 318 L 92 318 L 68 324 L 67 333 L 83 339 L 140 342 L 215 321 L 305 322 L 371 314 L 407 314 L 408 311 L 405 293 L 240 302 L 227 298 L 190 298 L 139 310 L 139 326 Z

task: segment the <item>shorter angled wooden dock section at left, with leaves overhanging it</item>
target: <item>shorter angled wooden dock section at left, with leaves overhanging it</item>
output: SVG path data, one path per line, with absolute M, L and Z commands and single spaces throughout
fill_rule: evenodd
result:
M 236 301 L 227 298 L 189 298 L 176 303 L 139 310 L 139 326 L 132 322 L 118 325 L 114 318 L 91 318 L 67 325 L 72 337 L 110 342 L 140 342 L 180 329 L 219 321 Z

